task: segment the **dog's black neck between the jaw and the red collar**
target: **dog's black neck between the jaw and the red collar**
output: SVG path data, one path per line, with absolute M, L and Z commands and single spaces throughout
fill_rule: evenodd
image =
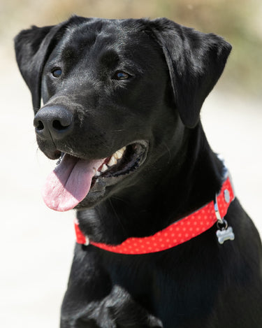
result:
M 214 199 L 222 184 L 223 164 L 210 150 L 200 123 L 184 134 L 187 144 L 181 143 L 178 152 L 166 149 L 154 171 L 140 178 L 139 184 L 78 212 L 87 236 L 111 244 L 149 236 Z

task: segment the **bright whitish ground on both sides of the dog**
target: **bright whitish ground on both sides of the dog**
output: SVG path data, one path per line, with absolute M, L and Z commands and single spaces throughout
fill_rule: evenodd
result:
M 36 150 L 31 97 L 15 60 L 2 64 L 0 322 L 5 328 L 54 328 L 73 255 L 75 214 L 43 204 L 41 187 L 54 163 Z M 262 233 L 261 104 L 212 92 L 202 119 Z

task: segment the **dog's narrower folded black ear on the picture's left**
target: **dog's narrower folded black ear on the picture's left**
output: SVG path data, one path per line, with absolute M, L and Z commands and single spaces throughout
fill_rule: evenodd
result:
M 15 37 L 15 55 L 22 77 L 31 91 L 34 111 L 41 106 L 43 66 L 57 44 L 67 22 L 48 27 L 26 29 Z

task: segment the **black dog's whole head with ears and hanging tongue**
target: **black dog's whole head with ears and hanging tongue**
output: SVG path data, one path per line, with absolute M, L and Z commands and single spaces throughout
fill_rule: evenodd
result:
M 44 199 L 66 211 L 136 183 L 154 171 L 163 149 L 180 148 L 231 45 L 164 18 L 75 16 L 22 31 L 15 50 L 39 148 L 62 157 Z

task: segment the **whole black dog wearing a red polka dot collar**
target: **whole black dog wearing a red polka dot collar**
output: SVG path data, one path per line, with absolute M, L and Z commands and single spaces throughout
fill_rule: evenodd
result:
M 259 234 L 199 121 L 231 45 L 166 19 L 72 17 L 15 50 L 39 148 L 61 157 L 45 203 L 78 210 L 61 327 L 261 328 Z

